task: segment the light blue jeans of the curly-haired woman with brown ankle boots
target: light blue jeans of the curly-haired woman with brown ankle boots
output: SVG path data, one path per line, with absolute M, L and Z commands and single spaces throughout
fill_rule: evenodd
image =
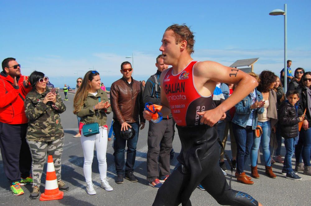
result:
M 270 121 L 258 122 L 258 125 L 262 128 L 261 137 L 254 137 L 254 143 L 251 149 L 251 164 L 253 167 L 257 165 L 257 157 L 259 145 L 261 144 L 263 158 L 266 166 L 271 166 L 271 155 L 270 155 L 270 135 L 271 135 L 271 124 Z

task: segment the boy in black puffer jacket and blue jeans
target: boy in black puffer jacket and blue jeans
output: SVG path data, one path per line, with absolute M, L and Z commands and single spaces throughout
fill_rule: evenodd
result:
M 291 167 L 291 158 L 294 154 L 294 139 L 298 136 L 298 123 L 302 121 L 302 117 L 298 117 L 299 94 L 296 90 L 286 92 L 287 100 L 281 104 L 279 111 L 279 123 L 281 125 L 281 135 L 284 137 L 286 155 L 283 163 L 282 174 L 286 174 L 286 178 L 291 180 L 301 180 L 302 178 L 293 172 Z

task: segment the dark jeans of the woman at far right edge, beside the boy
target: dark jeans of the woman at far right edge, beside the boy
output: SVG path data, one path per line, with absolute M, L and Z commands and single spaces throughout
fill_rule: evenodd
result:
M 310 164 L 310 150 L 311 150 L 311 129 L 304 130 L 301 128 L 299 132 L 298 145 L 302 145 L 302 159 L 304 160 L 304 166 L 311 166 Z M 300 149 L 301 150 L 301 149 Z M 297 151 L 300 153 L 299 151 Z

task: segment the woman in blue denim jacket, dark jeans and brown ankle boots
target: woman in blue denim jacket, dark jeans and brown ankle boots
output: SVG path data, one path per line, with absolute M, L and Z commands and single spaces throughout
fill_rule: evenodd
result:
M 255 77 L 257 74 L 251 72 L 249 75 Z M 248 94 L 243 100 L 235 105 L 235 114 L 232 119 L 234 137 L 237 144 L 236 172 L 238 182 L 252 185 L 254 182 L 245 175 L 244 163 L 250 154 L 254 141 L 254 130 L 257 127 L 258 114 L 262 114 L 264 101 L 262 94 L 255 88 L 253 92 Z

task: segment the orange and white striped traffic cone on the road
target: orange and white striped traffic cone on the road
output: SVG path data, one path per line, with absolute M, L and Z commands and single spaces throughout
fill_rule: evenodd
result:
M 40 201 L 63 199 L 64 193 L 58 190 L 57 178 L 52 155 L 48 156 L 48 168 L 46 171 L 45 190 L 40 196 Z

